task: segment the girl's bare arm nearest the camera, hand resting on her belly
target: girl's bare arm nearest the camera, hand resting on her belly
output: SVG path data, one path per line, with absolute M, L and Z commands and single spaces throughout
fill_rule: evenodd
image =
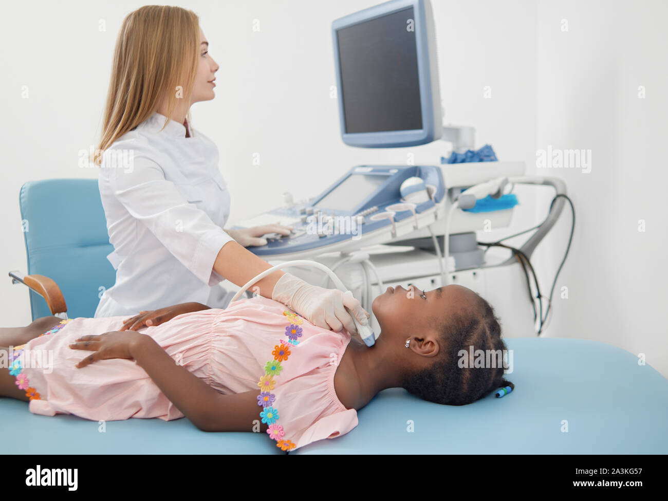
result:
M 154 339 L 134 331 L 117 331 L 88 335 L 70 345 L 73 349 L 93 350 L 77 367 L 96 360 L 134 359 L 158 385 L 160 391 L 176 405 L 186 418 L 204 432 L 267 431 L 261 422 L 262 408 L 257 404 L 260 389 L 223 395 L 202 379 L 178 365 Z

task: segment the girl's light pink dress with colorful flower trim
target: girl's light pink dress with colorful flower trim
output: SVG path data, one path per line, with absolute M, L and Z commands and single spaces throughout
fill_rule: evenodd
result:
M 69 343 L 82 335 L 116 331 L 126 318 L 72 319 L 17 351 L 13 375 L 19 387 L 35 394 L 30 411 L 96 421 L 182 418 L 135 361 L 108 359 L 75 367 L 90 352 L 71 349 Z M 346 409 L 334 391 L 334 374 L 350 342 L 345 330 L 321 329 L 285 305 L 258 296 L 224 310 L 179 315 L 140 332 L 220 393 L 262 389 L 258 420 L 269 425 L 267 433 L 284 450 L 357 426 L 357 411 Z

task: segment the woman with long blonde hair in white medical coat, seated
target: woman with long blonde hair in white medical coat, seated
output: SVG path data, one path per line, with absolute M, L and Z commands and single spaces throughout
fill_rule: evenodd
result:
M 242 286 L 271 267 L 245 246 L 265 244 L 263 234 L 291 230 L 278 224 L 222 229 L 230 196 L 218 171 L 218 149 L 188 120 L 192 104 L 215 97 L 216 71 L 192 11 L 148 5 L 124 19 L 95 158 L 116 283 L 102 294 L 96 317 L 188 303 L 168 309 L 164 321 L 198 309 L 194 303 L 224 308 L 233 293 L 218 283 Z M 275 271 L 256 286 L 260 295 L 325 329 L 357 333 L 344 307 L 367 323 L 369 314 L 352 295 L 289 273 Z M 136 318 L 133 329 L 160 322 Z

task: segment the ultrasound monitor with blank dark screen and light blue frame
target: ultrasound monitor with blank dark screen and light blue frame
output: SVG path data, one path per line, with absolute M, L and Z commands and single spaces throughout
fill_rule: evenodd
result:
M 336 19 L 332 31 L 345 144 L 399 148 L 441 137 L 429 0 L 391 0 Z

